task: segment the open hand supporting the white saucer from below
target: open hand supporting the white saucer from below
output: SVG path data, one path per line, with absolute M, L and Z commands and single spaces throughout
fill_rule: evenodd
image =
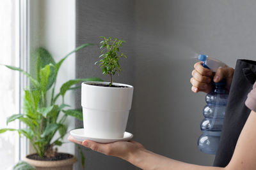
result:
M 135 155 L 136 152 L 140 150 L 145 150 L 145 148 L 136 141 L 116 141 L 114 143 L 97 143 L 94 141 L 85 140 L 83 142 L 77 141 L 71 135 L 68 136 L 68 140 L 79 145 L 86 146 L 92 150 L 105 155 L 120 157 L 121 159 L 127 160 L 130 162 L 132 155 Z

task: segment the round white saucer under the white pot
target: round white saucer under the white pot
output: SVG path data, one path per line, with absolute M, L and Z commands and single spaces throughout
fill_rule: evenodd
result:
M 124 138 L 111 138 L 111 139 L 93 138 L 93 137 L 90 137 L 90 136 L 85 136 L 84 135 L 84 129 L 74 129 L 74 130 L 70 131 L 70 134 L 77 141 L 90 140 L 90 141 L 95 141 L 95 142 L 98 142 L 98 143 L 113 143 L 115 141 L 129 141 L 133 137 L 133 134 L 131 134 L 129 132 L 124 132 Z

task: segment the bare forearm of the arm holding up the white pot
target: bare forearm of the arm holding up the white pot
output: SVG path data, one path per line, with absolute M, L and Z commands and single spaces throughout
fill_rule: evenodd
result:
M 145 170 L 161 170 L 161 169 L 170 169 L 170 170 L 219 170 L 225 169 L 222 167 L 210 167 L 210 166 L 197 166 L 194 164 L 187 164 L 184 162 L 180 162 L 177 160 L 169 159 L 167 157 L 163 157 L 156 153 L 149 152 L 145 149 L 140 149 L 136 153 L 132 153 L 127 161 L 134 166 L 140 167 L 141 169 Z

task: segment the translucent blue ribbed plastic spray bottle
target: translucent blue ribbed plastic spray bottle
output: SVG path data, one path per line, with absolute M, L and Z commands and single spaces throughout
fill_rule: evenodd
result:
M 203 61 L 202 66 L 216 72 L 218 68 L 226 66 L 220 60 L 213 59 L 207 55 L 198 55 Z M 203 110 L 204 120 L 201 122 L 203 134 L 198 139 L 198 148 L 201 152 L 215 154 L 220 143 L 220 135 L 223 126 L 225 108 L 227 106 L 228 93 L 225 89 L 226 80 L 218 83 L 212 81 L 212 90 L 205 96 L 206 106 Z

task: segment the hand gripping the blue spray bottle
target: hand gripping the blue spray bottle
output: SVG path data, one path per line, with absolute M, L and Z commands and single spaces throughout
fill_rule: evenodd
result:
M 205 92 L 209 93 L 212 89 L 211 79 L 215 83 L 218 83 L 223 78 L 227 80 L 226 89 L 230 90 L 230 85 L 232 83 L 234 69 L 232 67 L 221 67 L 216 71 L 216 73 L 212 73 L 211 70 L 202 66 L 203 62 L 196 62 L 194 65 L 194 70 L 192 71 L 192 78 L 190 79 L 190 83 L 192 84 L 191 90 L 195 93 L 197 92 Z

